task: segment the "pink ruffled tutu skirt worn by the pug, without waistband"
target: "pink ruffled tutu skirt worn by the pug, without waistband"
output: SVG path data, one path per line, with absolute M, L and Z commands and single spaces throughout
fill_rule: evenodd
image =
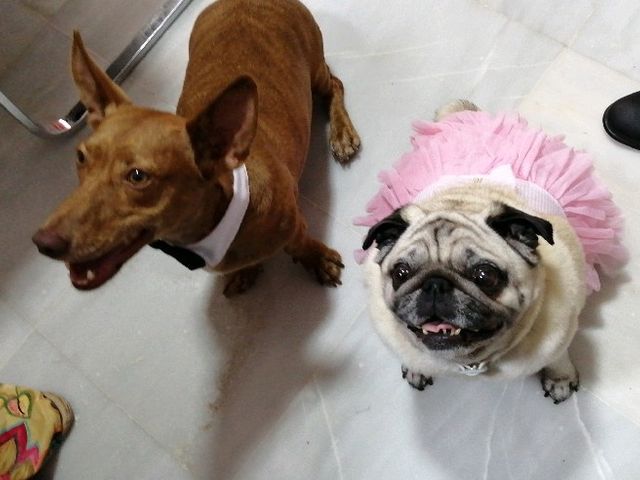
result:
M 562 137 L 530 128 L 518 115 L 472 111 L 415 122 L 414 130 L 413 151 L 380 173 L 382 186 L 356 225 L 374 225 L 443 175 L 483 175 L 511 165 L 517 178 L 544 188 L 563 207 L 584 247 L 590 291 L 600 289 L 596 269 L 611 275 L 626 260 L 620 210 L 593 176 L 591 158 Z

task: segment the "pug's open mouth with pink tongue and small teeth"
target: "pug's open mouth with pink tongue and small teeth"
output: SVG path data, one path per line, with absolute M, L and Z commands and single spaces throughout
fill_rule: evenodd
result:
M 408 323 L 405 325 L 418 340 L 433 350 L 463 347 L 486 340 L 502 328 L 502 325 L 491 329 L 462 328 L 438 318 L 429 319 L 418 327 Z

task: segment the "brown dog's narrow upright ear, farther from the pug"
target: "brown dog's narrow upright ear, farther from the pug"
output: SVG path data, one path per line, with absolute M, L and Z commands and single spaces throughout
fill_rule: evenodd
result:
M 109 106 L 131 103 L 124 91 L 91 59 L 77 30 L 73 32 L 71 72 L 80 100 L 89 111 L 92 128 L 100 125 Z

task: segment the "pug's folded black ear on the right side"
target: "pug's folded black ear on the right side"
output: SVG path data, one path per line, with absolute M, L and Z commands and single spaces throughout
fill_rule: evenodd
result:
M 487 219 L 487 225 L 516 250 L 527 262 L 536 258 L 538 237 L 553 245 L 553 226 L 544 218 L 529 215 L 508 205 L 502 211 Z M 534 264 L 537 262 L 533 262 Z

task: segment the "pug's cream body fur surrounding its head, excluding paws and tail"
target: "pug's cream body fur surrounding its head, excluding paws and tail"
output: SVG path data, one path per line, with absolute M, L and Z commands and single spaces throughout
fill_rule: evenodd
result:
M 427 207 L 431 211 L 438 210 L 443 203 L 462 196 L 475 197 L 476 208 L 489 208 L 491 202 L 499 199 L 507 205 L 527 211 L 515 196 L 500 187 L 489 185 L 448 189 L 418 207 L 421 207 L 420 210 Z M 419 215 L 417 210 L 413 215 Z M 537 282 L 537 300 L 519 321 L 522 328 L 490 357 L 468 359 L 490 362 L 487 376 L 514 378 L 538 372 L 561 358 L 577 330 L 578 314 L 586 297 L 582 249 L 564 218 L 544 218 L 553 225 L 555 244 L 541 242 L 538 247 L 542 274 Z M 370 290 L 371 318 L 381 338 L 409 370 L 425 376 L 459 373 L 458 365 L 465 359 L 444 359 L 437 352 L 428 350 L 389 310 L 382 290 L 382 271 L 375 262 L 377 249 L 371 250 L 364 268 Z

